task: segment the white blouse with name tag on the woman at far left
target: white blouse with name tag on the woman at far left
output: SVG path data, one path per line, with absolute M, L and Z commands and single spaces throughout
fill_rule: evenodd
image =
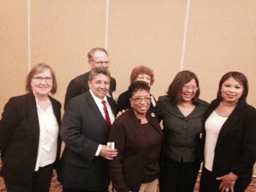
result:
M 56 160 L 59 125 L 50 99 L 48 101 L 49 108 L 45 112 L 38 105 L 37 99 L 35 100 L 40 128 L 38 153 L 34 169 L 37 171 L 39 167 L 52 164 Z

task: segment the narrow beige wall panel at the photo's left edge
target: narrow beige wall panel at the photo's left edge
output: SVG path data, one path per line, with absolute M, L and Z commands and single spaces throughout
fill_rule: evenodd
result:
M 27 0 L 0 0 L 0 113 L 25 93 L 28 73 Z

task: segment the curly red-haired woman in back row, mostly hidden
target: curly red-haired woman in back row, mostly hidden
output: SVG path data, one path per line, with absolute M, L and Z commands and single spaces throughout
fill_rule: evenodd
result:
M 144 65 L 136 66 L 135 68 L 132 69 L 130 74 L 130 83 L 133 83 L 135 81 L 145 81 L 150 87 L 154 83 L 153 70 Z M 130 98 L 129 90 L 120 94 L 120 96 L 117 99 L 117 111 L 122 111 L 123 109 L 126 110 L 131 107 L 129 98 Z M 155 106 L 156 106 L 156 100 L 154 96 L 151 95 L 150 107 L 154 109 Z

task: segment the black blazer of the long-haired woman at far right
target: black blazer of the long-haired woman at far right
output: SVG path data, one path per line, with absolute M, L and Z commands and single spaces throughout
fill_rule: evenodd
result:
M 205 113 L 205 120 L 219 105 L 215 99 Z M 205 140 L 205 130 L 202 140 Z M 227 118 L 221 128 L 215 147 L 213 162 L 214 177 L 220 177 L 232 171 L 240 179 L 251 181 L 253 165 L 256 160 L 256 109 L 241 101 Z M 248 183 L 248 185 L 249 185 Z

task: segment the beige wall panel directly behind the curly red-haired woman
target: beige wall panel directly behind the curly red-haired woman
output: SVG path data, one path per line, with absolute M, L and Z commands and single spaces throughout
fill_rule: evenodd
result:
M 152 94 L 164 95 L 179 72 L 186 1 L 112 0 L 109 50 L 118 95 L 128 89 L 132 68 L 144 64 L 155 73 Z

